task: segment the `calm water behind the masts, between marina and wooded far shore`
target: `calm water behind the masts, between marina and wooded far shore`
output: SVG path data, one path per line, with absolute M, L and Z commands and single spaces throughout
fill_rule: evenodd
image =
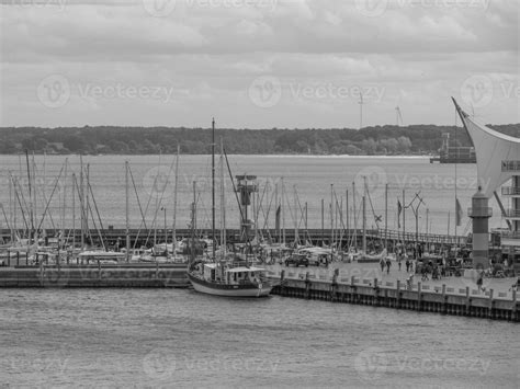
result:
M 69 156 L 67 178 L 65 170 L 61 180 L 55 187 L 55 180 L 64 165 L 66 157 L 63 156 L 36 156 L 36 176 L 38 203 L 36 214 L 42 215 L 49 199 L 49 211 L 44 226 L 47 228 L 59 228 L 61 226 L 61 209 L 65 201 L 65 226 L 72 225 L 71 206 L 71 173 L 77 174 L 79 180 L 79 157 Z M 9 184 L 8 172 L 21 178 L 23 195 L 27 197 L 26 172 L 24 159 L 19 156 L 0 156 L 0 202 L 8 205 Z M 173 220 L 173 193 L 174 193 L 174 156 L 87 156 L 83 163 L 89 164 L 90 183 L 93 198 L 106 228 L 109 225 L 123 228 L 125 226 L 125 161 L 129 162 L 132 170 L 129 204 L 131 224 L 138 228 L 143 226 L 145 218 L 148 227 L 163 226 L 163 214 L 161 207 L 167 209 L 167 224 Z M 336 192 L 338 204 L 342 204 L 343 217 L 347 213 L 347 191 L 349 191 L 349 224 L 353 226 L 354 195 L 355 215 L 358 226 L 361 226 L 360 210 L 361 196 L 363 194 L 363 176 L 368 179 L 370 198 L 368 201 L 368 226 L 375 227 L 374 214 L 382 216 L 385 213 L 385 184 L 388 184 L 388 218 L 387 224 L 392 229 L 397 229 L 397 198 L 402 202 L 403 190 L 406 191 L 405 204 L 409 205 L 416 193 L 420 193 L 426 205 L 419 207 L 419 230 L 428 230 L 438 233 L 454 233 L 454 209 L 455 209 L 455 176 L 457 196 L 464 209 L 462 226 L 459 233 L 468 231 L 466 215 L 471 206 L 471 196 L 476 192 L 476 165 L 475 164 L 430 164 L 428 158 L 406 157 L 348 157 L 348 156 L 229 156 L 233 174 L 256 174 L 261 184 L 258 207 L 258 225 L 261 228 L 274 227 L 275 211 L 275 186 L 278 185 L 278 198 L 282 196 L 284 187 L 284 219 L 286 228 L 294 228 L 294 193 L 299 199 L 303 209 L 305 203 L 308 206 L 308 226 L 319 228 L 321 225 L 321 199 L 325 201 L 325 224 L 330 226 L 329 204 L 331 202 L 331 184 Z M 217 164 L 218 158 L 217 158 Z M 217 171 L 217 182 L 221 173 Z M 229 227 L 238 226 L 238 210 L 233 185 L 226 172 L 226 213 Z M 193 182 L 196 182 L 197 191 L 197 225 L 199 227 L 211 226 L 211 156 L 181 156 L 178 175 L 178 228 L 186 228 L 190 218 L 190 204 L 192 202 Z M 283 180 L 282 180 L 283 178 Z M 357 191 L 352 190 L 352 182 L 357 183 Z M 24 185 L 25 184 L 25 185 Z M 283 184 L 283 185 L 282 185 Z M 265 188 L 265 190 L 264 190 Z M 45 195 L 44 195 L 45 192 Z M 217 192 L 218 193 L 218 192 Z M 139 210 L 140 202 L 144 217 Z M 64 198 L 65 197 L 65 198 Z M 217 199 L 218 199 L 217 195 Z M 29 198 L 29 197 L 27 197 Z M 334 202 L 336 202 L 336 199 Z M 11 202 L 12 204 L 12 202 Z M 76 196 L 76 206 L 78 207 Z M 417 203 L 415 204 L 417 205 Z M 91 205 L 93 207 L 93 205 Z M 499 217 L 500 211 L 496 202 L 495 217 L 490 219 L 491 227 L 498 227 L 504 221 Z M 508 204 L 506 204 L 506 207 Z M 9 208 L 9 207 L 7 207 Z M 427 208 L 429 210 L 427 216 Z M 8 213 L 9 214 L 9 213 Z M 251 216 L 251 215 L 249 215 Z M 219 206 L 217 206 L 219 218 Z M 76 210 L 79 218 L 79 208 Z M 95 217 L 97 218 L 97 217 Z M 255 218 L 255 216 L 253 216 Z M 267 220 L 267 221 L 265 221 Z M 282 220 L 283 221 L 283 220 Z M 406 213 L 407 231 L 415 230 L 415 217 L 411 209 Z M 5 226 L 3 217 L 0 225 Z M 18 210 L 18 225 L 22 226 L 22 217 Z M 76 224 L 78 225 L 78 222 Z M 301 228 L 304 222 L 301 222 Z M 384 226 L 384 221 L 382 222 Z M 78 227 L 78 226 L 76 226 Z

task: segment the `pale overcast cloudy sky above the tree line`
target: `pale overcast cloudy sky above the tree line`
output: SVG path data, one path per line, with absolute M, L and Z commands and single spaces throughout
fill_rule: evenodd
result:
M 517 0 L 0 3 L 0 126 L 520 122 Z

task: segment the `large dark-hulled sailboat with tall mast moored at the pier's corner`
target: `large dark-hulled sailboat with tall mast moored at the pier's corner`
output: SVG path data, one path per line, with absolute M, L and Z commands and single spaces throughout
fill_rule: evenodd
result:
M 224 152 L 223 152 L 224 153 Z M 223 173 L 221 167 L 221 173 Z M 222 178 L 221 185 L 224 185 Z M 224 191 L 221 191 L 224 196 Z M 224 201 L 221 202 L 224 207 Z M 192 213 L 192 242 L 194 243 L 195 225 L 195 204 Z M 241 208 L 240 208 L 241 213 Z M 246 262 L 226 261 L 225 254 L 216 259 L 215 248 L 215 119 L 212 122 L 212 260 L 204 262 L 194 258 L 194 244 L 192 244 L 192 259 L 188 267 L 188 278 L 196 291 L 213 296 L 224 297 L 264 297 L 271 293 L 272 285 L 265 276 L 265 270 L 262 267 L 250 266 Z M 225 227 L 224 227 L 225 228 Z M 223 244 L 225 247 L 225 244 Z M 224 251 L 223 251 L 224 253 Z

